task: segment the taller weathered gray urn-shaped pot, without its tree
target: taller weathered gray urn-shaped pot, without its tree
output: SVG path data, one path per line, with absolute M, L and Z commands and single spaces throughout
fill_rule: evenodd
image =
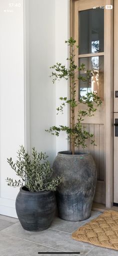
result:
M 96 186 L 96 167 L 90 153 L 59 152 L 53 170 L 55 175 L 63 175 L 56 192 L 59 217 L 71 221 L 88 218 Z

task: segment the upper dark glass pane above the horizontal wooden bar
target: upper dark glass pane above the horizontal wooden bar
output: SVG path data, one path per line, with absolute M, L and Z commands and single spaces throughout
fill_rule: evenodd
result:
M 103 52 L 103 39 L 104 10 L 98 8 L 79 12 L 79 54 Z

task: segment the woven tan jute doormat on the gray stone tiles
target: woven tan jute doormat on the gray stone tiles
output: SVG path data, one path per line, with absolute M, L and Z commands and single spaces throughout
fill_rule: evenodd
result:
M 73 232 L 72 238 L 118 250 L 118 212 L 104 211 L 100 216 Z

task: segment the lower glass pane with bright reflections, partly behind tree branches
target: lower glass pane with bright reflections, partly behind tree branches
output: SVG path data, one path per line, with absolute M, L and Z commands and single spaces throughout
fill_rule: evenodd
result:
M 85 70 L 80 71 L 79 75 L 86 78 L 86 81 L 79 80 L 79 98 L 87 92 L 96 92 L 103 100 L 103 56 L 94 56 L 87 58 L 79 58 L 79 65 L 85 64 Z M 87 78 L 86 70 L 91 70 L 91 78 Z

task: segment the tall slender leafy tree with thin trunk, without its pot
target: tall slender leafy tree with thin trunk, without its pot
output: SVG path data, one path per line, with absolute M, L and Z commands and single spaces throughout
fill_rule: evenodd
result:
M 62 101 L 61 105 L 56 108 L 57 114 L 60 111 L 63 113 L 63 107 L 67 104 L 70 106 L 70 127 L 59 125 L 51 126 L 49 130 L 45 130 L 46 132 L 51 133 L 52 135 L 58 136 L 60 132 L 65 132 L 67 134 L 67 139 L 70 143 L 70 148 L 72 154 L 75 152 L 75 147 L 79 145 L 82 146 L 84 149 L 86 147 L 85 141 L 90 138 L 91 144 L 94 144 L 93 134 L 89 134 L 83 129 L 81 121 L 84 120 L 85 116 L 92 116 L 96 111 L 97 107 L 101 104 L 101 100 L 98 97 L 97 93 L 95 92 L 87 92 L 85 96 L 81 96 L 80 99 L 76 99 L 76 85 L 78 80 L 83 82 L 91 79 L 92 72 L 91 70 L 85 70 L 85 65 L 81 64 L 80 66 L 75 65 L 74 57 L 75 57 L 75 50 L 78 49 L 79 46 L 76 46 L 76 41 L 73 40 L 71 37 L 68 41 L 65 41 L 67 46 L 69 47 L 69 58 L 66 60 L 69 62 L 69 67 L 66 68 L 65 65 L 61 63 L 56 63 L 55 65 L 51 66 L 50 68 L 53 69 L 51 72 L 50 77 L 52 77 L 52 82 L 54 83 L 56 80 L 69 80 L 69 87 L 70 87 L 70 98 L 67 97 L 60 97 L 59 99 Z M 84 71 L 86 73 L 86 77 L 80 75 L 80 72 Z M 78 88 L 77 88 L 78 89 Z M 86 109 L 82 110 L 78 106 L 79 104 L 86 105 Z M 77 119 L 75 120 L 75 109 L 77 108 Z M 94 144 L 95 145 L 95 144 Z

